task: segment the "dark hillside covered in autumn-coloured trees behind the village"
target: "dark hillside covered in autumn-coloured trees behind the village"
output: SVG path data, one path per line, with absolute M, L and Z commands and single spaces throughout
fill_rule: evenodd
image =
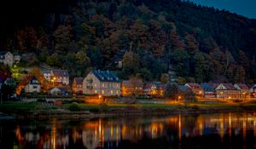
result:
M 256 81 L 256 20 L 224 10 L 180 0 L 9 0 L 0 11 L 0 49 L 33 53 L 28 66 L 152 81 L 171 63 L 179 80 Z

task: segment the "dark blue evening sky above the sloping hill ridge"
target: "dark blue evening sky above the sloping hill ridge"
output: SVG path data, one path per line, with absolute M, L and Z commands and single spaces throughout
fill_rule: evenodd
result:
M 241 14 L 256 19 L 256 0 L 189 0 L 201 5 L 226 9 L 232 13 Z

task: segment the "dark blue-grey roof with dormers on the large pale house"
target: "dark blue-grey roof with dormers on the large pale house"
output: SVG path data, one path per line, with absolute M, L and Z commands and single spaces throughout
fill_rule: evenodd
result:
M 116 82 L 120 83 L 121 80 L 119 77 L 116 75 L 115 72 L 111 71 L 100 71 L 100 70 L 95 70 L 91 71 L 101 82 Z

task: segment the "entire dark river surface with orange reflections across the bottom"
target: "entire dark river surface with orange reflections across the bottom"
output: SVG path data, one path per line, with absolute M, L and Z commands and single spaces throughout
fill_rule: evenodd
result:
M 255 148 L 256 113 L 0 121 L 1 148 Z

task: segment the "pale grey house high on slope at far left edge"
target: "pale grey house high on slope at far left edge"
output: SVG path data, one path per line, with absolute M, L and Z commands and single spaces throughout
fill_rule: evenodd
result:
M 11 54 L 8 52 L 0 52 L 0 62 L 7 66 L 14 66 L 14 64 L 18 64 L 20 62 L 21 56 L 20 54 Z

